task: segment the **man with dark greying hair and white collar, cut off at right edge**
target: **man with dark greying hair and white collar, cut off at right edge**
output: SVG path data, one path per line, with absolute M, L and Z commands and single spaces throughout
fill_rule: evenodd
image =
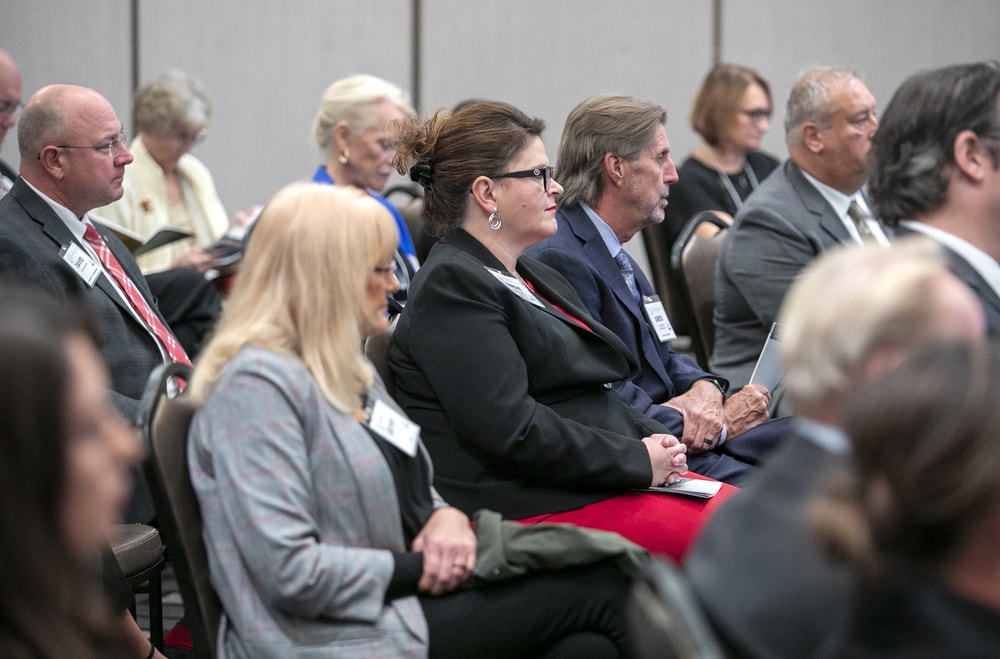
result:
M 899 235 L 940 244 L 1000 334 L 1000 65 L 907 79 L 872 143 L 872 205 Z

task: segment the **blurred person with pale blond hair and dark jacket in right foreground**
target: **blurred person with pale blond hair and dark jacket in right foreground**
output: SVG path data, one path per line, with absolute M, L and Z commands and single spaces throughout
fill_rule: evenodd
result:
M 847 624 L 854 582 L 825 557 L 807 511 L 850 465 L 847 402 L 909 353 L 981 342 L 986 327 L 975 297 L 924 238 L 830 250 L 792 285 L 779 320 L 792 435 L 709 522 L 685 568 L 738 656 L 824 657 Z

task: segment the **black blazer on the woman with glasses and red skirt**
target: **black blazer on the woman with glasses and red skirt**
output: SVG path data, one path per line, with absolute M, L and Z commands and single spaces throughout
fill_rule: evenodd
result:
M 517 264 L 548 301 L 538 305 L 487 268 L 504 271 L 464 231 L 435 245 L 390 352 L 397 398 L 423 429 L 438 491 L 466 513 L 518 518 L 648 487 L 638 440 L 667 430 L 613 390 L 637 373 L 627 347 L 548 266 Z

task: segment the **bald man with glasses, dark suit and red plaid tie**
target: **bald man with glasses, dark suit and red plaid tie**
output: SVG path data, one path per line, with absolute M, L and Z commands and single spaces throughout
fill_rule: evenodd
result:
M 18 144 L 21 177 L 0 199 L 0 278 L 87 305 L 101 328 L 111 398 L 134 422 L 153 368 L 186 357 L 176 350 L 172 355 L 150 325 L 150 320 L 166 323 L 128 249 L 97 228 L 136 298 L 122 290 L 84 239 L 91 226 L 88 211 L 122 195 L 132 154 L 123 143 L 121 122 L 97 92 L 52 85 L 28 100 L 18 122 Z M 148 305 L 147 319 L 136 301 Z M 137 488 L 127 519 L 145 522 L 153 514 L 148 493 Z

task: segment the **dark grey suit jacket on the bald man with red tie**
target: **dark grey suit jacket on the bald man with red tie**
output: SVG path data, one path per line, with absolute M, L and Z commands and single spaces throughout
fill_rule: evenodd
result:
M 150 306 L 156 302 L 135 259 L 117 238 L 95 225 L 111 252 L 135 282 Z M 101 275 L 88 286 L 59 256 L 59 250 L 77 242 L 52 208 L 23 179 L 0 199 L 0 280 L 39 288 L 61 301 L 80 300 L 98 322 L 101 355 L 111 375 L 112 400 L 135 423 L 139 399 L 152 370 L 163 363 L 156 341 L 126 307 Z M 160 316 L 166 325 L 166 321 Z

